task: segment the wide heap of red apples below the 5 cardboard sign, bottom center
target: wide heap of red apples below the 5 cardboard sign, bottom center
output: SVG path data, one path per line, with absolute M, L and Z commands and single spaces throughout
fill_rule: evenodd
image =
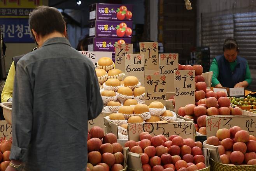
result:
M 140 141 L 127 141 L 130 152 L 140 154 L 143 171 L 195 171 L 205 168 L 202 143 L 172 135 L 140 133 Z

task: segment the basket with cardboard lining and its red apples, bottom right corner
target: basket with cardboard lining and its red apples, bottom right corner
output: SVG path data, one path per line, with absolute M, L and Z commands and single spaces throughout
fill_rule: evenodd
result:
M 216 136 L 209 136 L 203 142 L 203 147 L 211 150 L 214 170 L 224 165 L 241 171 L 247 168 L 256 170 L 256 138 L 239 126 L 218 129 Z

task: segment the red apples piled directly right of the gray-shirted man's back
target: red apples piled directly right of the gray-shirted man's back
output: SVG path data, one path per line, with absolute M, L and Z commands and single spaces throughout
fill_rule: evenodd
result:
M 87 171 L 119 171 L 123 169 L 123 147 L 115 134 L 104 135 L 101 127 L 92 127 L 87 140 Z

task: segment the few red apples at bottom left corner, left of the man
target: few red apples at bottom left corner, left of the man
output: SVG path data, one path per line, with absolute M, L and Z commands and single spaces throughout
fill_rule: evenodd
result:
M 5 171 L 10 164 L 9 156 L 11 154 L 12 141 L 4 140 L 0 143 L 0 171 Z

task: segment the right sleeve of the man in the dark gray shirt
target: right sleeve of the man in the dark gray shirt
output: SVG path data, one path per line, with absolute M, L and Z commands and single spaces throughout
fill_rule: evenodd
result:
M 93 66 L 91 72 L 91 102 L 88 111 L 88 120 L 95 119 L 101 112 L 103 108 L 103 101 L 100 95 L 100 87 L 98 83 L 98 78 Z

